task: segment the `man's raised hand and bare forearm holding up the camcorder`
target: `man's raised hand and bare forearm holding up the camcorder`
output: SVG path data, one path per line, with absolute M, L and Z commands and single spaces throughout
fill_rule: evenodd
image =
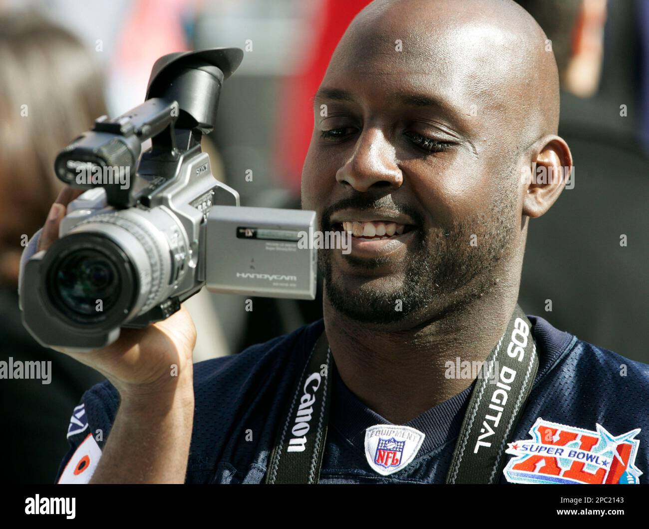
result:
M 82 192 L 66 187 L 58 195 L 38 251 L 58 239 L 67 204 Z M 119 391 L 119 412 L 92 483 L 184 482 L 193 425 L 195 344 L 195 326 L 181 308 L 146 328 L 122 329 L 103 349 L 55 348 L 102 373 Z

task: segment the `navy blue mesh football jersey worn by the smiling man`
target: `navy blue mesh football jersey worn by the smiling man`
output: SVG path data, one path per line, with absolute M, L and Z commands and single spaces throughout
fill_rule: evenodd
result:
M 649 482 L 649 365 L 561 332 L 541 317 L 529 319 L 539 370 L 503 448 L 500 482 Z M 263 482 L 284 407 L 323 329 L 320 320 L 240 354 L 195 364 L 186 482 Z M 389 421 L 339 376 L 333 384 L 321 483 L 445 482 L 473 384 L 406 424 L 425 434 L 424 441 L 417 456 L 389 476 L 373 471 L 363 445 L 367 428 Z M 107 381 L 84 393 L 57 480 L 88 481 L 84 470 L 101 456 L 118 406 L 117 390 Z

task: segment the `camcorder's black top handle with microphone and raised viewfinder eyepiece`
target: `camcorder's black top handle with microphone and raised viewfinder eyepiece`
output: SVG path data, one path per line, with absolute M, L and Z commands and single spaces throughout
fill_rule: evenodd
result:
M 239 48 L 162 56 L 151 71 L 145 103 L 115 119 L 99 117 L 90 132 L 58 154 L 56 176 L 75 188 L 105 188 L 108 204 L 114 208 L 134 206 L 143 191 L 148 196 L 177 175 L 182 154 L 200 151 L 202 134 L 214 129 L 223 81 L 242 59 Z M 140 160 L 142 143 L 149 139 L 152 148 Z M 80 178 L 104 168 L 129 171 L 135 176 L 134 184 L 123 188 Z

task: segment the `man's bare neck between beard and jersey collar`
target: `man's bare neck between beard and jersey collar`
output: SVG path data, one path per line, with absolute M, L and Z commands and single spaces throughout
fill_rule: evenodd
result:
M 504 287 L 504 286 L 503 286 Z M 517 302 L 499 288 L 424 327 L 382 331 L 339 314 L 324 299 L 324 325 L 339 375 L 371 410 L 404 424 L 471 386 L 447 378 L 447 362 L 484 362 L 505 332 Z

